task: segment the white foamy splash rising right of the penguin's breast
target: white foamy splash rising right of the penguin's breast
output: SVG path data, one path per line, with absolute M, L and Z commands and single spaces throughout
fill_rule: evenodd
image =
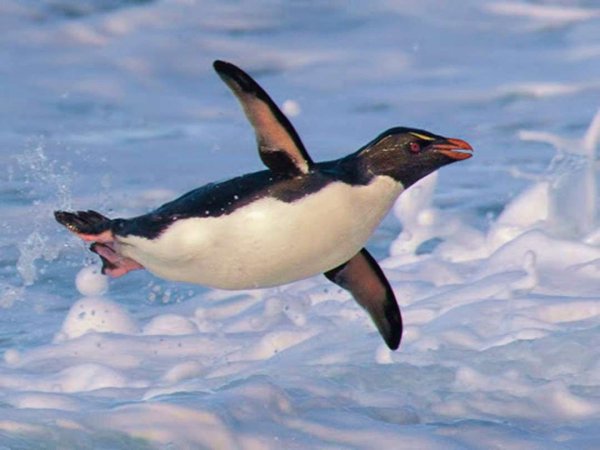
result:
M 409 263 L 419 258 L 418 249 L 424 242 L 441 239 L 442 244 L 434 250 L 438 256 L 453 261 L 473 260 L 491 255 L 531 230 L 600 245 L 600 110 L 583 138 L 567 139 L 539 131 L 521 131 L 519 137 L 548 143 L 556 155 L 544 174 L 524 175 L 534 183 L 506 205 L 487 234 L 432 206 L 437 177 L 429 176 L 400 196 L 394 206 L 403 230 L 392 242 L 390 255 L 398 263 Z

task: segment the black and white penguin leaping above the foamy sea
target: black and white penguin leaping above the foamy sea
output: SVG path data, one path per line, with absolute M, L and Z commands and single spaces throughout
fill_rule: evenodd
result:
M 266 170 L 210 183 L 152 212 L 110 219 L 56 211 L 113 277 L 158 277 L 221 289 L 282 285 L 324 274 L 349 291 L 396 350 L 402 317 L 365 244 L 397 197 L 438 168 L 472 156 L 465 141 L 395 127 L 342 158 L 314 162 L 291 122 L 237 66 L 213 67 L 254 128 Z

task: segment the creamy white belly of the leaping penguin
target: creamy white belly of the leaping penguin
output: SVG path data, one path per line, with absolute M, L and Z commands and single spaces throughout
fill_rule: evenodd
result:
M 221 217 L 174 222 L 160 237 L 119 238 L 121 253 L 154 274 L 222 289 L 289 283 L 349 260 L 402 192 L 392 178 L 337 182 L 285 203 L 264 198 Z

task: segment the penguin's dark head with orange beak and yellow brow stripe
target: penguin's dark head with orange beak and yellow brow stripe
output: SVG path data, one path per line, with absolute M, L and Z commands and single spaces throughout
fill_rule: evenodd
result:
M 371 174 L 390 176 L 407 188 L 442 166 L 470 158 L 472 151 L 462 139 L 396 127 L 381 133 L 357 156 Z

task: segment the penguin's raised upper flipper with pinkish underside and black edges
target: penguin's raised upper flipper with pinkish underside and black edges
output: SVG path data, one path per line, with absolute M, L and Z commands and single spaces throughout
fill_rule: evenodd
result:
M 213 67 L 233 91 L 254 127 L 263 163 L 280 175 L 308 173 L 313 162 L 300 136 L 265 90 L 231 63 L 215 61 Z

